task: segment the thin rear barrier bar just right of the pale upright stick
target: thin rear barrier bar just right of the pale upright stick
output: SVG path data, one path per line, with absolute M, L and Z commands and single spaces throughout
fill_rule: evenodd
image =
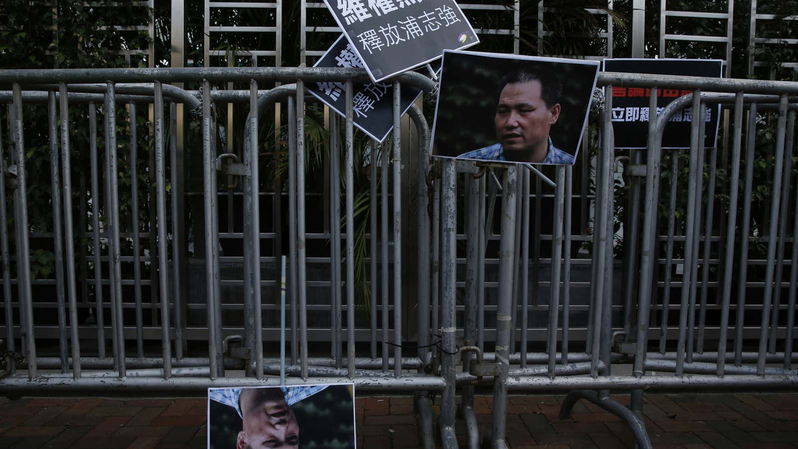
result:
M 291 364 L 297 363 L 299 352 L 297 296 L 299 284 L 297 280 L 297 169 L 296 169 L 296 105 L 294 97 L 288 97 L 288 256 L 290 276 L 291 303 Z

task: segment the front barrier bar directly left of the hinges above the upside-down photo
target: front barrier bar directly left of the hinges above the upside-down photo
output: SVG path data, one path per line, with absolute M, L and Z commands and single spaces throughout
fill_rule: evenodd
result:
M 215 314 L 215 273 L 214 273 L 214 256 L 216 251 L 214 248 L 215 239 L 213 238 L 213 213 L 215 211 L 215 189 L 211 185 L 211 174 L 215 170 L 215 154 L 213 151 L 213 144 L 211 140 L 214 138 L 212 134 L 211 125 L 211 85 L 207 80 L 203 80 L 202 88 L 202 133 L 203 133 L 203 190 L 205 197 L 204 215 L 205 215 L 205 297 L 207 300 L 207 328 L 208 328 L 208 358 L 211 368 L 211 379 L 215 379 L 219 375 L 219 366 L 217 365 L 217 353 L 219 348 L 216 347 L 219 336 L 216 335 L 216 314 Z

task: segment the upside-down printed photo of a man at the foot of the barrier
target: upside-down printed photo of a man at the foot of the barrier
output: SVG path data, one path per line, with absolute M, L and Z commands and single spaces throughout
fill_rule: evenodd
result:
M 208 388 L 207 447 L 354 449 L 354 384 Z

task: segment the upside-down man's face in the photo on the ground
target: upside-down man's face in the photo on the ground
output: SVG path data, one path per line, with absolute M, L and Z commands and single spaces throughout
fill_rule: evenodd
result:
M 245 388 L 239 405 L 243 430 L 236 449 L 298 447 L 299 426 L 279 388 Z

